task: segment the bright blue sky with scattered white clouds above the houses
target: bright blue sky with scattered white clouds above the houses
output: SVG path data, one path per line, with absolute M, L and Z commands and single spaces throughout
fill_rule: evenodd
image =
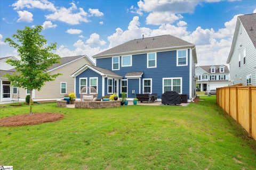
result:
M 236 17 L 255 1 L 0 1 L 0 57 L 17 29 L 43 25 L 60 56 L 92 56 L 130 39 L 171 34 L 196 44 L 198 64 L 225 64 Z

